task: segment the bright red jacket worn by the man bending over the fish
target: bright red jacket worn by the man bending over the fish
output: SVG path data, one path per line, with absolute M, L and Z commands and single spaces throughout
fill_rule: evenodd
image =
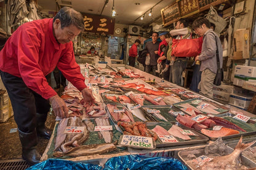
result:
M 73 43 L 58 44 L 52 26 L 52 18 L 24 23 L 0 52 L 0 70 L 22 77 L 28 88 L 45 99 L 57 95 L 45 77 L 55 66 L 78 90 L 86 88 Z

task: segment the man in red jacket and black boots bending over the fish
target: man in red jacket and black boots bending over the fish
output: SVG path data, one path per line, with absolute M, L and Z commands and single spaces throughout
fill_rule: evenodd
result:
M 22 143 L 22 158 L 39 163 L 37 136 L 50 138 L 44 126 L 50 104 L 57 117 L 68 117 L 65 102 L 47 83 L 46 75 L 57 66 L 81 91 L 87 104 L 94 104 L 80 67 L 74 58 L 72 40 L 84 30 L 82 15 L 63 7 L 54 18 L 34 20 L 19 26 L 0 52 L 0 74 L 6 87 Z

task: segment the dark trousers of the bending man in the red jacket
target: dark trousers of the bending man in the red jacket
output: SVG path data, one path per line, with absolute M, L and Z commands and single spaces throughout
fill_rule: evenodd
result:
M 31 133 L 36 128 L 36 113 L 46 114 L 50 110 L 49 100 L 42 98 L 26 86 L 22 78 L 1 72 L 2 82 L 14 110 L 14 120 L 23 133 Z

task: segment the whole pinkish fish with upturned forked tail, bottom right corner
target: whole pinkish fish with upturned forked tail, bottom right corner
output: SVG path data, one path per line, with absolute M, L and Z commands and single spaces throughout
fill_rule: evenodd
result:
M 256 141 L 244 144 L 242 143 L 242 136 L 236 145 L 234 151 L 230 155 L 217 156 L 211 161 L 208 161 L 204 164 L 201 164 L 199 169 L 208 170 L 208 169 L 241 169 L 241 153 L 243 150 L 246 150 L 251 145 L 255 144 Z M 255 168 L 253 168 L 255 169 Z

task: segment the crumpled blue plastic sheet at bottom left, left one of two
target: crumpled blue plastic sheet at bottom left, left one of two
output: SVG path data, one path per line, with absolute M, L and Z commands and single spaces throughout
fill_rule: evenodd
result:
M 49 169 L 62 169 L 62 170 L 102 170 L 102 166 L 95 164 L 76 163 L 74 161 L 49 159 L 41 163 L 34 164 L 26 170 L 49 170 Z

